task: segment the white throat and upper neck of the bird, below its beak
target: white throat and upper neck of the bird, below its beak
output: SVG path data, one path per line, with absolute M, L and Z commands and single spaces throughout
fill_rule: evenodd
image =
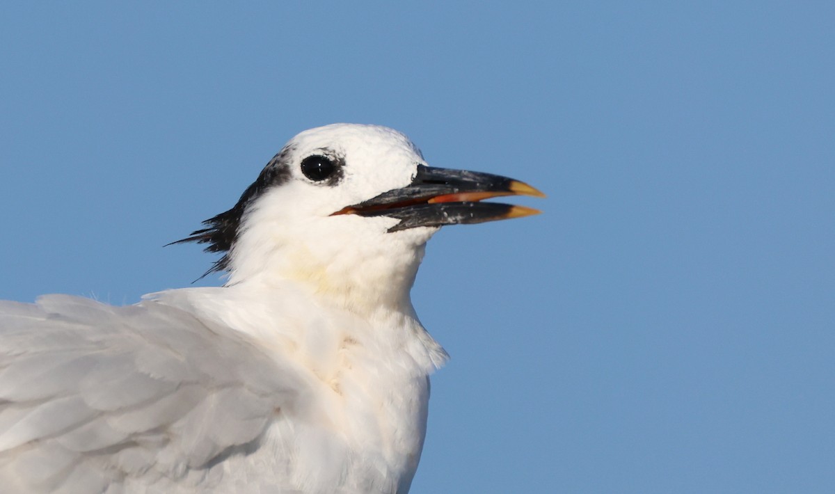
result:
M 397 220 L 353 215 L 293 221 L 276 214 L 283 209 L 272 207 L 271 199 L 246 216 L 230 252 L 227 285 L 290 280 L 321 303 L 358 315 L 380 309 L 413 314 L 409 290 L 437 229 L 387 233 Z

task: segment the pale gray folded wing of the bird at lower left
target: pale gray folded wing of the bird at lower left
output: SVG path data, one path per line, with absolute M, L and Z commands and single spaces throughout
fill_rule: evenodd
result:
M 110 492 L 185 476 L 256 449 L 302 381 L 244 335 L 154 301 L 2 301 L 0 486 Z

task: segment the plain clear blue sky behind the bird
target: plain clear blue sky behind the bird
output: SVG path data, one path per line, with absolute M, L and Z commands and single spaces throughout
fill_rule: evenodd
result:
M 4 3 L 0 298 L 114 304 L 297 132 L 400 129 L 534 218 L 443 229 L 412 492 L 835 489 L 831 3 Z M 200 280 L 214 285 L 216 278 Z

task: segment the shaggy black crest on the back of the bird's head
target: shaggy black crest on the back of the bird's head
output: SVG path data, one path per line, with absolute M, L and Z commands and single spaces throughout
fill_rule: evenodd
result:
M 203 276 L 227 270 L 230 263 L 229 251 L 232 249 L 232 245 L 235 244 L 235 239 L 237 239 L 240 230 L 240 221 L 243 218 L 246 207 L 261 196 L 261 194 L 264 194 L 266 189 L 284 184 L 291 178 L 290 164 L 287 161 L 294 150 L 291 146 L 286 146 L 284 149 L 281 149 L 270 160 L 270 163 L 266 164 L 266 167 L 261 170 L 261 174 L 258 175 L 256 181 L 240 195 L 240 199 L 238 199 L 237 204 L 232 209 L 220 213 L 214 218 L 206 219 L 203 222 L 206 228 L 195 230 L 191 232 L 189 237 L 171 242 L 169 245 L 185 244 L 187 242 L 209 244 L 205 248 L 206 252 L 225 252 L 225 255 L 219 260 L 216 260 L 215 264 Z

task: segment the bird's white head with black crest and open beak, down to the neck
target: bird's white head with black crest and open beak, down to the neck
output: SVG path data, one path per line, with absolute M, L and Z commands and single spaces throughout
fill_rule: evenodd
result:
M 514 179 L 430 167 L 393 129 L 335 123 L 296 135 L 232 209 L 175 243 L 223 253 L 210 272 L 229 271 L 227 285 L 293 280 L 347 305 L 397 304 L 441 226 L 539 213 L 480 202 L 514 194 L 543 196 Z

